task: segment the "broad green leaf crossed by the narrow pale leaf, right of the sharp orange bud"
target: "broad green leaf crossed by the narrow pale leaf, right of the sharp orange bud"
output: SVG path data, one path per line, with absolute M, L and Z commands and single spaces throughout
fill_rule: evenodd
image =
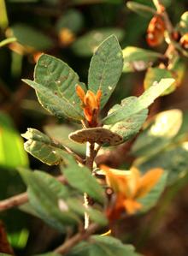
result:
M 132 101 L 135 100 L 136 97 L 129 97 L 125 98 L 122 101 L 122 105 L 128 105 Z M 113 111 L 118 110 L 120 108 L 120 105 L 115 105 L 109 112 L 109 114 L 113 113 Z M 128 119 L 125 119 L 121 122 L 116 122 L 115 124 L 112 125 L 105 125 L 103 128 L 108 128 L 115 134 L 119 134 L 122 138 L 123 141 L 129 140 L 134 136 L 135 134 L 138 133 L 140 128 L 142 128 L 142 125 L 144 124 L 146 118 L 148 116 L 148 110 L 141 110 L 138 112 L 138 114 L 135 114 Z

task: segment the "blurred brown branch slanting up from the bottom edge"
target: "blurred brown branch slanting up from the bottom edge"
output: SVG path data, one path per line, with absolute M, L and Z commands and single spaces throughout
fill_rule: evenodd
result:
M 72 238 L 70 238 L 68 241 L 64 242 L 62 246 L 57 247 L 54 251 L 54 253 L 68 253 L 68 251 L 75 246 L 79 241 L 87 240 L 87 238 L 93 234 L 97 229 L 99 228 L 98 224 L 92 223 L 88 229 L 79 232 L 76 235 L 73 235 Z

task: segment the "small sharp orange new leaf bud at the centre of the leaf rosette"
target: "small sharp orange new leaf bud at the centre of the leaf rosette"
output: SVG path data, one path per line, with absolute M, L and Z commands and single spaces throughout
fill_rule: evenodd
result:
M 85 91 L 81 86 L 76 86 L 76 93 L 78 94 L 82 107 L 85 114 L 85 119 L 91 127 L 97 125 L 97 115 L 100 109 L 100 100 L 102 96 L 102 91 L 98 90 L 97 94 L 88 90 L 85 94 Z

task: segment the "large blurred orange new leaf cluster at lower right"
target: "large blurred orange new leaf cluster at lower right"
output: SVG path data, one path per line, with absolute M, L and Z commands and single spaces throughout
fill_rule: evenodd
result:
M 135 167 L 130 171 L 113 170 L 106 165 L 100 168 L 106 175 L 107 184 L 115 193 L 115 203 L 107 209 L 110 221 L 118 219 L 123 211 L 133 214 L 141 209 L 138 199 L 149 193 L 162 176 L 162 169 L 159 168 L 149 170 L 144 176 Z

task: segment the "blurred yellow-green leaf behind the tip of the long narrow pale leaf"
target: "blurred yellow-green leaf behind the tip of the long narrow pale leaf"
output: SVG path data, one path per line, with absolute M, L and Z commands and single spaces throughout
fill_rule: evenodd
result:
M 159 82 L 162 78 L 173 78 L 173 74 L 165 68 L 148 68 L 144 78 L 144 89 L 147 90 L 155 81 Z M 162 95 L 167 95 L 173 92 L 176 88 L 175 85 L 176 82 L 174 81 L 172 86 L 162 92 Z

